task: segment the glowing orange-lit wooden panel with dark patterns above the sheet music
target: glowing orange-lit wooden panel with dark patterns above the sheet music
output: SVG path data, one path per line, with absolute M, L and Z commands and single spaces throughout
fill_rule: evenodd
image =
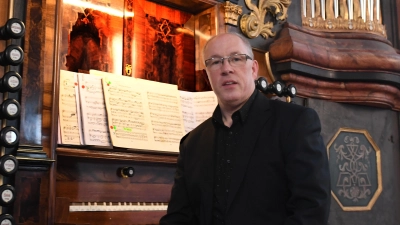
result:
M 193 15 L 145 0 L 62 5 L 60 69 L 100 70 L 195 90 Z

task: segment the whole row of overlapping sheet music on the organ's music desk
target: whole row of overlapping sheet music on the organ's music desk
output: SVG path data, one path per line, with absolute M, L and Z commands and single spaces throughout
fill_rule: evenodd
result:
M 59 144 L 178 152 L 179 141 L 212 116 L 214 92 L 91 70 L 60 72 Z

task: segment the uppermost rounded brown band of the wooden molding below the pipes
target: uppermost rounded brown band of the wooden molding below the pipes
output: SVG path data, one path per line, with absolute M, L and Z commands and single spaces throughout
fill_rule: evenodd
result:
M 382 36 L 312 31 L 286 23 L 270 46 L 275 62 L 298 61 L 325 69 L 400 74 L 400 54 Z

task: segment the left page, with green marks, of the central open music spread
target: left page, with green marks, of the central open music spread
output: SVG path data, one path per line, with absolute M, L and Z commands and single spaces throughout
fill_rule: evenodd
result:
M 153 135 L 142 88 L 132 77 L 109 76 L 102 81 L 112 144 L 148 149 Z

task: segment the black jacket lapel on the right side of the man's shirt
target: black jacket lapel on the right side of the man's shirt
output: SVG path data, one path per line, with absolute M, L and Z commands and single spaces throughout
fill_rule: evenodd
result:
M 243 127 L 243 136 L 240 141 L 239 149 L 236 154 L 236 162 L 232 171 L 232 180 L 227 201 L 227 210 L 234 197 L 236 196 L 243 178 L 246 174 L 247 165 L 255 148 L 256 141 L 259 137 L 261 128 L 271 117 L 269 110 L 269 100 L 262 94 L 258 94 L 253 102 L 250 113 Z

